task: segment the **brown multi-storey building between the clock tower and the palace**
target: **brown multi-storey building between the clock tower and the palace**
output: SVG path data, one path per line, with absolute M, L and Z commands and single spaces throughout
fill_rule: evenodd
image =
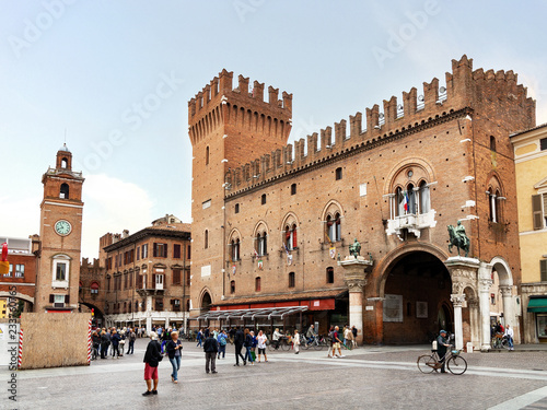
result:
M 101 238 L 106 326 L 186 328 L 190 295 L 190 225 L 165 215 L 132 235 Z

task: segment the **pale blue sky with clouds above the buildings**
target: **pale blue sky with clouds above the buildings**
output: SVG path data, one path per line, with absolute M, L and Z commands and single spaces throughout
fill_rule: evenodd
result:
M 434 77 L 514 70 L 547 121 L 544 1 L 0 0 L 0 236 L 39 232 L 65 142 L 82 257 L 106 232 L 190 222 L 187 102 L 223 68 L 293 93 L 290 141 Z

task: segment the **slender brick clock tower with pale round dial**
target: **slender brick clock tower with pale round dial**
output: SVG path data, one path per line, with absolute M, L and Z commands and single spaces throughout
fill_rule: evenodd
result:
M 40 250 L 34 312 L 78 308 L 82 243 L 82 173 L 72 171 L 72 153 L 63 144 L 55 168 L 42 177 Z

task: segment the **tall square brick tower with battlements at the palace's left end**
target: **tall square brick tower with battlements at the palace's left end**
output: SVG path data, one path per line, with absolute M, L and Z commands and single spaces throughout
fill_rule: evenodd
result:
M 287 145 L 291 131 L 292 94 L 238 77 L 225 69 L 188 102 L 193 147 L 193 309 L 207 308 L 207 295 L 223 295 L 226 267 L 224 236 L 225 175 L 255 157 Z M 274 160 L 275 161 L 275 160 Z M 257 176 L 258 169 L 253 176 Z M 196 285 L 194 285 L 196 284 Z M 214 296 L 213 296 L 214 295 Z M 206 303 L 202 303 L 202 301 Z M 216 301 L 212 301 L 216 302 Z

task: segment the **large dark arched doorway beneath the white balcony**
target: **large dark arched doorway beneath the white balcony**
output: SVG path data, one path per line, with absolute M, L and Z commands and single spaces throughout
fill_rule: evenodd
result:
M 428 343 L 441 328 L 454 330 L 452 280 L 434 255 L 415 250 L 387 268 L 384 285 L 384 343 Z

